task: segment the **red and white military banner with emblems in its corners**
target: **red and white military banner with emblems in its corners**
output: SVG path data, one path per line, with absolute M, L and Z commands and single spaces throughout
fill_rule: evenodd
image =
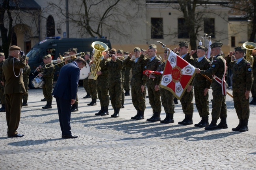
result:
M 160 87 L 171 91 L 177 99 L 181 99 L 196 74 L 195 67 L 173 51 L 169 51 L 168 54 Z

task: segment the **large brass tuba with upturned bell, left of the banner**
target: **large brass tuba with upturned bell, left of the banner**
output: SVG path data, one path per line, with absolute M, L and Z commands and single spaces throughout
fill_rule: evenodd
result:
M 103 59 L 102 52 L 108 50 L 108 45 L 106 45 L 103 42 L 93 42 L 91 46 L 94 48 L 94 61 L 93 64 L 95 64 L 95 67 L 91 68 L 91 76 L 93 77 L 93 80 L 97 80 L 98 74 L 97 71 L 100 71 L 100 61 Z

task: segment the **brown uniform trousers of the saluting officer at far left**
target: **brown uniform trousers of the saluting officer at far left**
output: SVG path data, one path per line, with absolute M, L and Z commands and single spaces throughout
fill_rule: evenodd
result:
M 6 94 L 6 121 L 7 135 L 17 134 L 20 123 L 20 111 L 22 107 L 22 93 Z

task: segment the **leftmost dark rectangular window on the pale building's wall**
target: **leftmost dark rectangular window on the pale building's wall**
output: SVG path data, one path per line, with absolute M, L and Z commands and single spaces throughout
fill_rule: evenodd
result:
M 151 38 L 163 38 L 163 18 L 151 18 Z

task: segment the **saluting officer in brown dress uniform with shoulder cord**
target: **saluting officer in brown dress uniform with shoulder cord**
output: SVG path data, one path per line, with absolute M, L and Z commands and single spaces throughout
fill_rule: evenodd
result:
M 19 55 L 21 55 L 19 60 Z M 7 136 L 22 137 L 17 129 L 20 123 L 22 94 L 26 93 L 23 82 L 22 68 L 26 65 L 26 56 L 20 47 L 13 45 L 9 48 L 9 57 L 3 64 L 4 94 L 6 96 Z

